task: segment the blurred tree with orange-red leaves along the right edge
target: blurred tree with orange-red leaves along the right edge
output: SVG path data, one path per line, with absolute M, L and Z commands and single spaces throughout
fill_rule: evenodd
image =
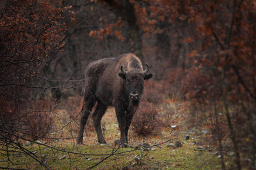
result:
M 250 168 L 255 169 L 255 4 L 235 0 L 190 4 L 188 21 L 196 23 L 204 41 L 190 57 L 198 63 L 195 74 L 211 77 L 202 96 L 223 101 L 220 111 L 228 123 L 237 169 L 241 169 L 241 154 L 247 154 L 241 149 L 245 143 L 252 149 Z M 234 107 L 237 111 L 232 111 Z

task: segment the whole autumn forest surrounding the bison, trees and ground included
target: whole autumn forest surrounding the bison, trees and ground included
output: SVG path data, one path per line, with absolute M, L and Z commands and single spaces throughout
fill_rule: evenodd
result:
M 255 0 L 0 4 L 0 169 L 256 169 Z M 77 145 L 87 65 L 129 52 L 153 74 L 129 145 L 113 107 Z

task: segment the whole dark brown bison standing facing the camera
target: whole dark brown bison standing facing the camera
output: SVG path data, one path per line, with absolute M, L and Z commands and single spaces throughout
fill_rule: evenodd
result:
M 107 106 L 114 106 L 121 131 L 120 142 L 127 143 L 132 116 L 137 111 L 144 89 L 144 80 L 150 79 L 149 65 L 142 69 L 142 62 L 132 54 L 120 55 L 90 63 L 85 71 L 84 103 L 78 134 L 78 144 L 82 144 L 83 131 L 92 107 L 92 114 L 98 142 L 106 143 L 101 130 L 100 120 Z

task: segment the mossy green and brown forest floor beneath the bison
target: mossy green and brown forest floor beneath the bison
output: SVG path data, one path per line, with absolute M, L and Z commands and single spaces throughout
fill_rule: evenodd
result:
M 171 105 L 171 104 L 170 104 Z M 170 106 L 171 107 L 171 106 Z M 169 109 L 169 108 L 165 108 Z M 55 123 L 61 127 L 68 122 L 68 114 L 64 110 L 55 111 Z M 65 117 L 66 116 L 66 117 Z M 179 118 L 178 118 L 178 117 Z M 9 168 L 20 169 L 221 169 L 220 158 L 215 147 L 202 142 L 207 132 L 184 128 L 184 114 L 172 115 L 180 121 L 175 121 L 176 128 L 162 128 L 159 135 L 138 137 L 129 131 L 129 145 L 119 147 L 114 141 L 119 139 L 119 129 L 114 108 L 108 108 L 102 118 L 103 133 L 107 145 L 97 144 L 97 135 L 92 128 L 91 120 L 85 130 L 84 145 L 76 145 L 75 138 L 59 140 L 37 140 L 41 145 L 24 142 L 23 147 L 33 153 L 10 154 L 10 160 L 15 164 Z M 72 125 L 74 124 L 74 125 Z M 76 123 L 68 123 L 62 128 L 61 136 L 75 135 Z M 74 128 L 75 127 L 75 128 Z M 185 135 L 189 139 L 184 138 Z M 187 137 L 188 138 L 188 137 Z M 49 145 L 50 147 L 45 147 Z M 137 148 L 135 148 L 137 147 Z M 65 150 L 65 152 L 63 152 Z M 18 153 L 18 152 L 17 152 Z M 6 159 L 1 157 L 0 159 Z M 38 166 L 43 162 L 44 166 Z M 0 163 L 6 166 L 6 163 Z

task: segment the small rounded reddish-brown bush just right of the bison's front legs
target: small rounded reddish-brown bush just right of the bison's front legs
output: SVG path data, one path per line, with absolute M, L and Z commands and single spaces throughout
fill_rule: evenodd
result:
M 146 101 L 142 101 L 132 119 L 132 130 L 136 135 L 144 137 L 158 135 L 162 124 L 158 111 Z

